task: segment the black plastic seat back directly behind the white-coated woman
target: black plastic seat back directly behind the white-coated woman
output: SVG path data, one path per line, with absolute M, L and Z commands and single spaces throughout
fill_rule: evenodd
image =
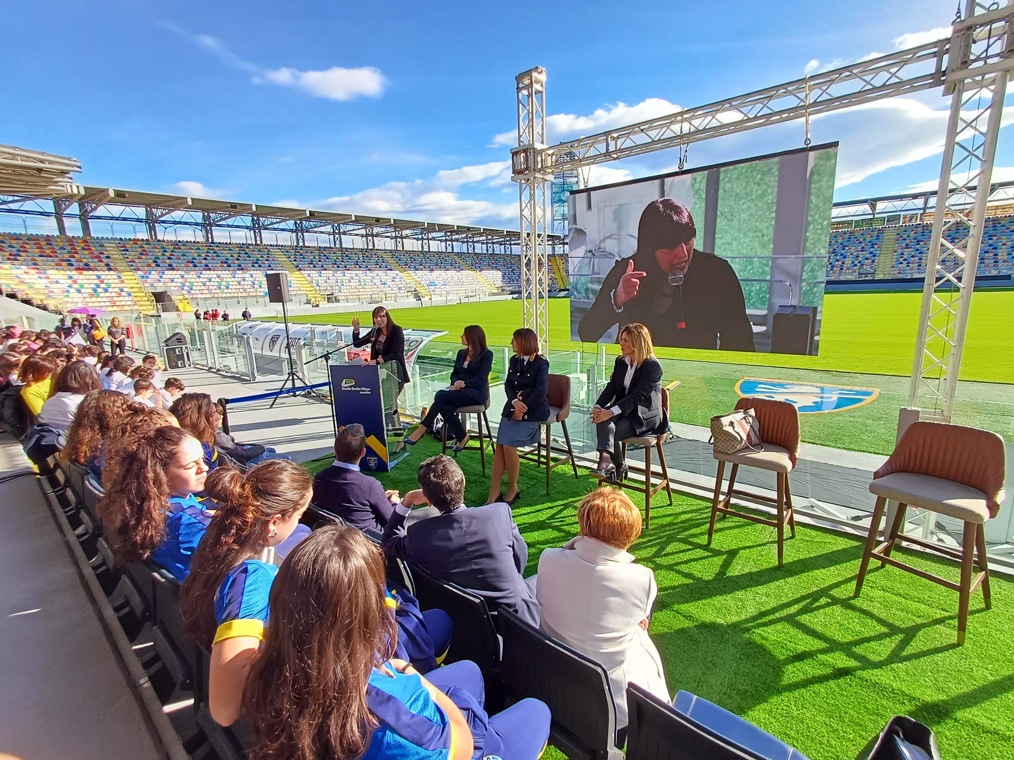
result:
M 534 697 L 549 705 L 550 742 L 570 758 L 621 758 L 605 668 L 510 610 L 497 612 L 497 629 L 503 637 L 501 673 L 507 697 Z

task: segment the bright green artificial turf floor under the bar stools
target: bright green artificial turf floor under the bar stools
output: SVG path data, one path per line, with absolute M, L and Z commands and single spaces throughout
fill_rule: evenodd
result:
M 403 493 L 417 487 L 418 463 L 439 450 L 426 438 L 380 479 Z M 478 452 L 457 461 L 468 481 L 465 503 L 482 504 L 489 479 Z M 577 503 L 597 484 L 580 472 L 575 479 L 555 470 L 547 496 L 545 472 L 522 462 L 514 518 L 528 544 L 525 575 L 535 572 L 542 549 L 577 533 Z M 727 518 L 708 547 L 709 505 L 673 496 L 673 507 L 655 498 L 651 529 L 632 547 L 658 582 L 651 635 L 673 694 L 684 689 L 710 699 L 812 760 L 852 760 L 894 714 L 931 726 L 946 760 L 1014 758 L 1010 581 L 993 576 L 990 611 L 982 594 L 972 597 L 967 639 L 958 648 L 954 592 L 873 563 L 862 595 L 852 599 L 859 537 L 801 524 L 779 568 L 774 528 Z M 955 564 L 904 553 L 957 580 Z

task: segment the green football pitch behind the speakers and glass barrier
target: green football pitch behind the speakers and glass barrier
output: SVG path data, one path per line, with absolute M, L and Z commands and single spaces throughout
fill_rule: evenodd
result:
M 665 381 L 679 380 L 672 420 L 708 425 L 732 407 L 736 382 L 745 377 L 876 388 L 863 406 L 806 414 L 803 440 L 854 451 L 887 454 L 894 446 L 897 409 L 906 405 L 919 327 L 922 293 L 828 293 L 824 296 L 820 353 L 816 357 L 658 349 Z M 979 291 L 972 300 L 961 362 L 955 423 L 1014 441 L 1014 292 Z M 366 324 L 369 312 L 357 312 Z M 427 306 L 393 312 L 406 327 L 447 330 L 437 338 L 456 344 L 466 324 L 481 324 L 491 346 L 509 346 L 521 325 L 521 302 L 491 301 Z M 294 322 L 349 324 L 352 312 L 314 313 Z M 594 344 L 570 340 L 570 303 L 550 301 L 550 351 L 593 355 Z M 613 346 L 606 347 L 615 353 Z

